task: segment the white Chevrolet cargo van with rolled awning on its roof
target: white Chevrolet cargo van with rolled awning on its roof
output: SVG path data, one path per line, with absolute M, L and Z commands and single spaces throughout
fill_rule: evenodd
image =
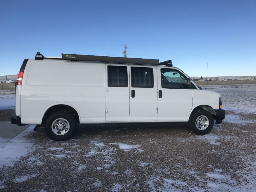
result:
M 200 89 L 172 61 L 62 54 L 26 59 L 12 124 L 67 140 L 76 124 L 188 123 L 206 134 L 225 118 L 219 93 Z

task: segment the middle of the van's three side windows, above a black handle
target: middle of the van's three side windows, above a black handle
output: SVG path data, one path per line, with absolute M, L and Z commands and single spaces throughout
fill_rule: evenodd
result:
M 132 87 L 154 87 L 153 68 L 131 67 Z

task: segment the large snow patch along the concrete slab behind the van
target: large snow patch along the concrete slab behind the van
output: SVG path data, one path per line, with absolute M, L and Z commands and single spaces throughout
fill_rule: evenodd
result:
M 20 157 L 27 156 L 28 153 L 36 149 L 32 140 L 29 140 L 27 137 L 31 132 L 34 132 L 33 129 L 35 126 L 30 125 L 19 135 L 0 147 L 0 168 L 3 166 L 13 166 L 15 161 L 20 159 Z M 4 141 L 6 140 L 0 138 L 0 143 L 3 144 Z

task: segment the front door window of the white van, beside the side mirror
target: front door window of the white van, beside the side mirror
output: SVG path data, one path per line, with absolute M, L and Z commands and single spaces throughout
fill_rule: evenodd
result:
M 180 71 L 170 68 L 161 68 L 162 88 L 187 89 L 187 77 Z

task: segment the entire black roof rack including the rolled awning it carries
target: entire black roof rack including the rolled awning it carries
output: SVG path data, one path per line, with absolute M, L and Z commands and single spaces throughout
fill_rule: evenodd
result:
M 141 58 L 126 58 L 126 57 L 108 57 L 108 56 L 95 56 L 95 55 L 77 55 L 77 54 L 64 54 L 62 57 L 44 57 L 40 52 L 36 53 L 35 60 L 44 59 L 62 59 L 71 61 L 100 61 L 106 63 L 130 63 L 130 64 L 148 64 L 148 65 L 165 65 L 172 67 L 172 60 L 160 62 L 158 59 L 141 59 Z

